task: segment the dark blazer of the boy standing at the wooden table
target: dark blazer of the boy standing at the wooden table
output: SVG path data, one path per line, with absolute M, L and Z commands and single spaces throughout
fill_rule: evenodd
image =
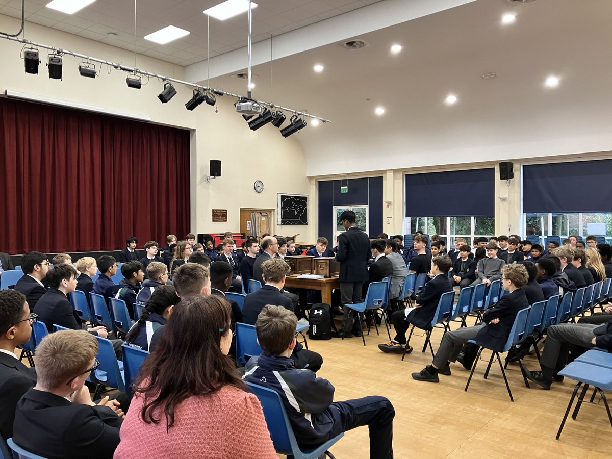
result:
M 340 282 L 368 280 L 370 238 L 357 226 L 351 226 L 338 238 L 337 261 L 340 261 Z

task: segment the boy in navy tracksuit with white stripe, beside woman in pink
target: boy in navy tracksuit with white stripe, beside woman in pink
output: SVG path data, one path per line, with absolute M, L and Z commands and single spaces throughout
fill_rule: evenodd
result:
M 370 429 L 370 458 L 393 457 L 395 410 L 385 397 L 373 395 L 334 401 L 334 386 L 310 370 L 296 370 L 289 359 L 296 346 L 297 318 L 293 312 L 268 305 L 255 328 L 263 353 L 252 357 L 242 377 L 249 383 L 274 389 L 283 400 L 297 442 L 321 444 L 362 425 Z

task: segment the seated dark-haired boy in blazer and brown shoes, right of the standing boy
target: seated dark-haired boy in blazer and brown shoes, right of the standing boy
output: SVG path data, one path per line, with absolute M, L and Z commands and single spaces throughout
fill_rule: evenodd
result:
M 412 347 L 406 343 L 406 332 L 412 325 L 427 330 L 431 326 L 433 316 L 436 314 L 438 302 L 442 293 L 452 291 L 450 279 L 447 276 L 452 262 L 448 255 L 437 256 L 431 260 L 431 272 L 433 278 L 425 284 L 425 287 L 417 296 L 416 306 L 405 308 L 403 311 L 394 312 L 391 321 L 395 327 L 395 338 L 389 343 L 379 344 L 378 348 L 384 353 L 412 352 Z

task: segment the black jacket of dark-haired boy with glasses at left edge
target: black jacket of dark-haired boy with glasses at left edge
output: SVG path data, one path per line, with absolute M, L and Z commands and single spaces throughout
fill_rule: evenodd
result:
M 0 434 L 4 439 L 13 436 L 17 402 L 35 384 L 34 368 L 26 367 L 15 357 L 0 353 Z

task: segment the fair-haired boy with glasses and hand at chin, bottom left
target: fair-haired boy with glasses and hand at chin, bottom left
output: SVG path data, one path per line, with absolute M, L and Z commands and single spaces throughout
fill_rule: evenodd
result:
M 116 400 L 98 405 L 84 386 L 98 342 L 83 330 L 43 338 L 36 348 L 36 385 L 17 403 L 13 440 L 43 457 L 109 458 L 119 444 L 124 413 Z

